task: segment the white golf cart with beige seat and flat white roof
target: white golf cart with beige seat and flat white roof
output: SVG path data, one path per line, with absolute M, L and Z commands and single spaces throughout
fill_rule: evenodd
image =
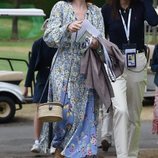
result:
M 0 9 L 0 16 L 45 16 L 41 9 Z M 20 89 L 20 82 L 24 79 L 24 74 L 21 71 L 14 71 L 12 61 L 28 62 L 21 59 L 1 58 L 1 61 L 7 61 L 11 71 L 0 71 L 0 123 L 11 121 L 16 113 L 16 110 L 22 109 L 22 104 L 32 101 L 31 95 L 24 98 Z

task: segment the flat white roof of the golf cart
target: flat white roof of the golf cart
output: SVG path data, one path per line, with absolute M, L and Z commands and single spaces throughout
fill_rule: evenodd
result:
M 46 16 L 42 9 L 0 9 L 0 16 Z

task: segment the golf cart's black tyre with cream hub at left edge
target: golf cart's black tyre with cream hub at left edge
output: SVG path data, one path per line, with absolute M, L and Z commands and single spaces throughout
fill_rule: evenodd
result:
M 0 96 L 0 123 L 7 123 L 15 115 L 15 103 L 7 96 Z

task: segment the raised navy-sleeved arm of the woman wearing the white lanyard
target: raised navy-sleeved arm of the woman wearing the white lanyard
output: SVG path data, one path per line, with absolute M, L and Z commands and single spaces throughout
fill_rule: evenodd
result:
M 152 0 L 143 0 L 144 8 L 145 8 L 145 20 L 151 26 L 158 25 L 158 15 L 152 6 Z

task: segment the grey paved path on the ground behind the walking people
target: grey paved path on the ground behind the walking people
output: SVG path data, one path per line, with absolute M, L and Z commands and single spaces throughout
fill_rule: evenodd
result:
M 0 158 L 50 158 L 50 155 L 29 152 L 33 143 L 33 107 L 24 107 L 14 122 L 0 125 Z M 142 113 L 142 133 L 139 158 L 158 158 L 158 136 L 151 133 L 152 108 L 145 107 Z M 116 158 L 115 148 L 108 153 L 99 150 L 99 158 Z

